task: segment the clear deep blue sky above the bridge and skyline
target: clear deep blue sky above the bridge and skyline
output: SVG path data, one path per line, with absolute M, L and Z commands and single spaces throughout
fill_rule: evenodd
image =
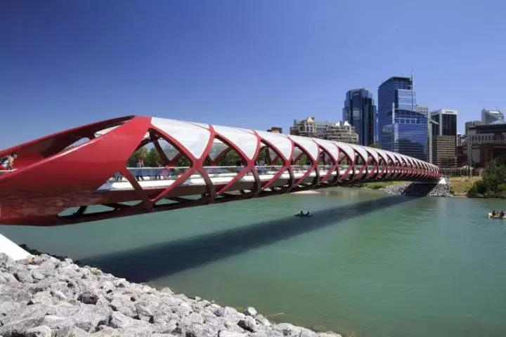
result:
M 464 3 L 465 2 L 465 3 Z M 155 115 L 266 129 L 342 117 L 415 72 L 417 103 L 506 110 L 505 1 L 0 1 L 0 147 Z

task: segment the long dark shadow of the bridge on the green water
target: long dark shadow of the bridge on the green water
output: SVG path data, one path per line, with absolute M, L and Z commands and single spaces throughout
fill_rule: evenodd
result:
M 84 258 L 79 263 L 95 265 L 132 282 L 148 282 L 413 199 L 384 197 L 361 201 L 314 212 L 311 218 L 300 219 L 291 215 L 173 242 Z

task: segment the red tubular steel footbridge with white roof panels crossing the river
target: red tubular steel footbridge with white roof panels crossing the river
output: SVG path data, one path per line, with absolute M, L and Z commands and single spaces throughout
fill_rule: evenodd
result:
M 129 167 L 141 147 L 156 149 L 158 167 Z M 441 178 L 437 166 L 372 147 L 143 116 L 54 133 L 1 150 L 0 158 L 12 152 L 14 169 L 0 171 L 5 225 L 65 225 L 366 181 Z M 227 166 L 231 152 L 237 160 Z

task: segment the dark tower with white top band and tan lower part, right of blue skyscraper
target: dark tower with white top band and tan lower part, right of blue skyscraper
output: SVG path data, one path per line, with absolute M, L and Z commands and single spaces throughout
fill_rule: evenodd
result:
M 435 123 L 429 126 L 432 131 L 432 164 L 443 169 L 457 165 L 457 110 L 439 109 L 431 112 L 430 118 Z

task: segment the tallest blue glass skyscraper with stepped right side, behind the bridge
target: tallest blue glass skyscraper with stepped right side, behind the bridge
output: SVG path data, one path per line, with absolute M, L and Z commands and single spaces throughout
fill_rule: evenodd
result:
M 391 77 L 378 88 L 378 140 L 384 150 L 427 160 L 427 109 L 417 108 L 413 79 Z

